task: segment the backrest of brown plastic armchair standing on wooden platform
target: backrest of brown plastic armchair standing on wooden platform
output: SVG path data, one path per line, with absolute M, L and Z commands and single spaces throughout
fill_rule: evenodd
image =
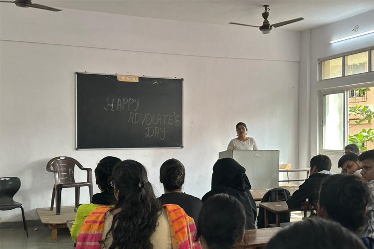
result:
M 74 158 L 68 156 L 58 156 L 49 160 L 49 162 L 47 163 L 47 170 L 53 169 L 55 184 L 75 182 L 75 165 L 77 165 L 79 168 L 83 167 Z

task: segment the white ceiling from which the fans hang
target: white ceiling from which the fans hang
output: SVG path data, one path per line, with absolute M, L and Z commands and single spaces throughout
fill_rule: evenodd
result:
M 302 21 L 278 28 L 295 31 L 313 29 L 374 9 L 374 0 L 33 0 L 33 3 L 168 20 L 257 26 L 263 21 L 262 5 L 268 4 L 270 23 L 304 17 Z M 374 17 L 368 20 L 373 21 Z

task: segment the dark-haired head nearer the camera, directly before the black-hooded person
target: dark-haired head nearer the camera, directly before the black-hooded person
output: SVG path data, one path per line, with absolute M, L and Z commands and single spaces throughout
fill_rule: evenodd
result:
M 244 207 L 227 194 L 211 196 L 202 205 L 197 223 L 197 238 L 202 236 L 209 249 L 232 249 L 243 237 Z

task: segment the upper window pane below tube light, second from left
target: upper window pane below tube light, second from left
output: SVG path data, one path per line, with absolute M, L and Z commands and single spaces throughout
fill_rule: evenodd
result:
M 345 56 L 345 75 L 369 72 L 369 51 Z

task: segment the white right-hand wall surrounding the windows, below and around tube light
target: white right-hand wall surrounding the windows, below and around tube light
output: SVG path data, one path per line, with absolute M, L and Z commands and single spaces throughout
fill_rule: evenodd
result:
M 318 59 L 374 46 L 373 33 L 330 44 L 332 40 L 352 35 L 352 29 L 356 25 L 360 27 L 358 33 L 374 29 L 374 10 L 301 33 L 299 164 L 308 165 L 310 158 L 320 153 L 321 90 L 374 81 L 373 72 L 318 81 Z M 328 156 L 333 162 L 332 170 L 339 172 L 337 165 L 341 155 Z

